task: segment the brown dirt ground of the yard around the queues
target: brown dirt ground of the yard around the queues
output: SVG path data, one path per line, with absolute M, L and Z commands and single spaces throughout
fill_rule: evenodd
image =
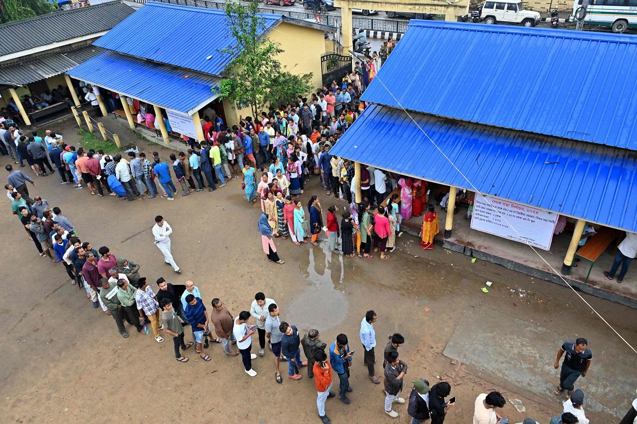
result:
M 68 143 L 76 141 L 70 124 L 56 129 Z M 159 150 L 164 159 L 168 156 L 169 151 L 159 146 L 134 142 L 140 150 Z M 9 163 L 6 157 L 0 162 L 3 168 Z M 22 169 L 31 173 L 27 167 Z M 410 365 L 403 397 L 408 397 L 416 378 L 427 378 L 431 384 L 439 379 L 452 383 L 451 396 L 458 401 L 450 409 L 447 423 L 470 422 L 476 395 L 496 389 L 506 399 L 520 399 L 526 407 L 526 413 L 518 413 L 512 404 L 505 406 L 501 414 L 512 423 L 526 416 L 548 423 L 551 414 L 561 411 L 557 397 L 550 394 L 558 376 L 552 369 L 558 345 L 521 341 L 515 332 L 512 335 L 505 330 L 507 322 L 499 324 L 502 330 L 475 323 L 477 349 L 485 344 L 499 345 L 513 357 L 529 349 L 537 351 L 524 361 L 541 369 L 543 379 L 538 384 L 527 384 L 522 374 L 529 371 L 510 369 L 510 361 L 494 361 L 493 367 L 471 361 L 454 364 L 454 358 L 443 355 L 459 323 L 476 311 L 478 321 L 481 314 L 486 317 L 489 311 L 497 311 L 511 322 L 540 325 L 565 337 L 587 337 L 595 359 L 585 383 L 600 388 L 588 394 L 587 416 L 592 422 L 619 421 L 618 414 L 623 415 L 634 397 L 636 380 L 625 384 L 616 379 L 626 373 L 632 376 L 634 353 L 568 288 L 479 260 L 472 263 L 469 257 L 440 247 L 424 252 L 418 240 L 407 235 L 397 239 L 399 248 L 387 261 L 377 255 L 373 260 L 334 255 L 329 253 L 327 241 L 313 248 L 277 239 L 285 264 L 271 264 L 256 229 L 259 206 L 248 206 L 236 180 L 216 192 L 178 196 L 174 202 L 159 197 L 136 202 L 99 198 L 87 189 L 60 185 L 57 176 L 37 178 L 36 183 L 36 187 L 29 187 L 31 195 L 41 195 L 51 206 L 60 206 L 82 241 L 90 241 L 96 248 L 108 246 L 116 256 L 138 262 L 141 275 L 152 282 L 160 276 L 177 284 L 192 279 L 207 307 L 213 297 L 219 297 L 234 314 L 248 310 L 254 294 L 262 291 L 276 300 L 282 320 L 296 324 L 301 332 L 317 328 L 328 346 L 336 334 L 347 334 L 357 351 L 350 379 L 354 392 L 350 393 L 350 405 L 338 399 L 327 402 L 327 415 L 334 423 L 392 421 L 383 413 L 382 385 L 371 383 L 362 365 L 358 332 L 368 309 L 378 314 L 378 351 L 392 332 L 401 332 L 406 338 L 399 350 Z M 317 178 L 311 178 L 303 199 L 310 194 L 326 197 Z M 306 370 L 302 370 L 305 377 L 301 381 L 284 379 L 278 385 L 269 352 L 253 361 L 258 375 L 250 378 L 243 372 L 240 357 L 226 357 L 217 344 L 208 349 L 211 362 L 200 360 L 191 349 L 185 352 L 190 361 L 181 364 L 174 359 L 169 338 L 158 344 L 152 333 L 140 335 L 129 327 L 131 337 L 123 339 L 113 319 L 94 309 L 84 290 L 71 285 L 61 264 L 38 256 L 11 215 L 8 201 L 4 202 L 0 278 L 10 294 L 0 299 L 4 323 L 0 421 L 320 422 L 315 386 Z M 329 201 L 322 203 L 327 208 Z M 181 275 L 162 263 L 153 243 L 151 228 L 158 214 L 174 229 L 172 251 L 183 270 Z M 490 293 L 482 293 L 480 288 L 487 280 L 494 285 Z M 152 287 L 157 290 L 154 283 Z M 518 288 L 528 295 L 519 297 L 518 292 L 510 291 Z M 589 296 L 585 299 L 635 344 L 637 311 Z M 186 331 L 186 341 L 190 337 Z M 257 349 L 254 337 L 253 352 Z M 376 353 L 376 358 L 381 356 Z M 382 374 L 380 364 L 376 369 Z M 285 375 L 285 364 L 281 371 Z M 336 376 L 334 380 L 338 386 Z M 612 400 L 603 389 L 608 386 L 612 387 L 609 393 L 615 395 Z M 406 405 L 395 409 L 400 414 L 396 422 L 409 422 Z

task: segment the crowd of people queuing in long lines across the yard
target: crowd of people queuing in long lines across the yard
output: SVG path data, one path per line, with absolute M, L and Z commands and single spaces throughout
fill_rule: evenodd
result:
M 90 241 L 80 239 L 75 225 L 62 214 L 60 206 L 52 207 L 40 196 L 31 199 L 28 185 L 36 186 L 35 181 L 13 166 L 23 166 L 26 161 L 36 176 L 54 173 L 52 166 L 55 166 L 61 184 L 73 184 L 76 189 L 87 187 L 91 195 L 103 196 L 106 191 L 129 201 L 145 199 L 145 194 L 148 199 L 159 195 L 156 181 L 161 188 L 160 197 L 173 200 L 178 191 L 172 174 L 182 196 L 203 190 L 204 178 L 208 191 L 224 187 L 227 180 L 241 178 L 249 204 L 259 202 L 261 206 L 258 228 L 264 253 L 268 260 L 278 264 L 284 262 L 276 253 L 273 237 L 290 238 L 297 246 L 304 243 L 317 246 L 323 241 L 322 232 L 333 252 L 373 258 L 370 254 L 373 246 L 380 251 L 381 259 L 387 259 L 396 248 L 396 237 L 401 236 L 401 221 L 423 211 L 421 246 L 432 248 L 438 219 L 433 206 L 427 204 L 426 182 L 363 166 L 362 201 L 357 203 L 354 164 L 329 153 L 362 110 L 357 101 L 361 87 L 356 80 L 345 76 L 341 83 L 333 81 L 310 99 L 299 96 L 294 105 L 281 105 L 255 119 L 241 118 L 232 127 L 226 127 L 219 117 L 206 117 L 202 122 L 206 139 L 187 140 L 190 145 L 187 152 L 169 155 L 169 163 L 163 162 L 157 152 L 152 153 L 152 160 L 144 152 L 127 152 L 126 160 L 121 154 L 106 155 L 101 150 L 68 146 L 62 136 L 52 131 L 46 131 L 41 138 L 36 131 L 25 134 L 15 122 L 0 123 L 0 151 L 10 155 L 14 162 L 6 165 L 5 188 L 11 210 L 39 254 L 54 263 L 61 262 L 71 283 L 83 288 L 92 306 L 101 307 L 104 314 L 113 317 L 122 337 L 129 337 L 126 323 L 139 333 L 148 334 L 152 330 L 157 343 L 171 337 L 175 360 L 182 363 L 189 362 L 183 352 L 193 346 L 204 362 L 210 361 L 206 350 L 210 342 L 219 343 L 225 355 L 241 356 L 250 377 L 257 375 L 253 361 L 265 357 L 267 349 L 273 357 L 278 384 L 283 383 L 280 362 L 287 362 L 287 378 L 293 381 L 301 380 L 299 369 L 307 367 L 308 378 L 315 381 L 318 416 L 323 423 L 330 423 L 326 400 L 338 397 L 345 404 L 351 402 L 348 393 L 354 390 L 350 375 L 355 356 L 362 356 L 362 366 L 371 383 L 381 383 L 376 375 L 375 311 L 368 311 L 362 318 L 359 339 L 364 352 L 355 355 L 346 334 L 338 334 L 329 348 L 321 341 L 317 329 L 301 336 L 296 325 L 282 320 L 275 300 L 262 292 L 255 294 L 249 308 L 236 314 L 218 297 L 211 299 L 208 309 L 193 281 L 178 285 L 158 278 L 154 290 L 150 281 L 141 276 L 140 264 L 121 255 L 116 257 L 107 246 L 96 250 Z M 334 204 L 327 208 L 317 195 L 301 200 L 306 183 L 314 175 L 320 178 L 327 197 L 334 199 Z M 394 190 L 399 193 L 392 194 Z M 155 217 L 152 233 L 164 262 L 181 273 L 171 255 L 173 229 L 162 216 Z M 192 341 L 187 342 L 185 327 L 189 325 Z M 254 335 L 259 341 L 257 353 L 252 353 Z M 397 418 L 399 414 L 394 407 L 407 403 L 412 424 L 428 420 L 441 424 L 455 405 L 455 397 L 447 400 L 452 387 L 447 381 L 430 387 L 427 379 L 416 378 L 408 399 L 400 397 L 408 372 L 408 365 L 398 352 L 403 343 L 401 334 L 392 334 L 383 350 L 383 410 Z M 306 360 L 301 357 L 301 350 Z M 556 369 L 564 353 L 555 394 L 561 395 L 566 390 L 567 400 L 563 413 L 554 417 L 551 424 L 588 424 L 582 409 L 583 392 L 576 390 L 574 384 L 588 372 L 592 355 L 584 339 L 564 343 L 555 361 Z M 338 377 L 338 392 L 331 390 L 336 383 L 334 373 Z M 475 400 L 473 423 L 495 424 L 502 418 L 497 409 L 503 406 L 505 399 L 500 393 L 481 393 Z M 524 420 L 524 424 L 535 422 L 530 418 Z

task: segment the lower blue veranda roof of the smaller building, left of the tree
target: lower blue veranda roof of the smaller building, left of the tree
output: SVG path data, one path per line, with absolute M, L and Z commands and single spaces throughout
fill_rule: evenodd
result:
M 219 79 L 186 69 L 156 64 L 115 52 L 104 52 L 68 71 L 87 81 L 134 99 L 191 115 L 217 94 Z

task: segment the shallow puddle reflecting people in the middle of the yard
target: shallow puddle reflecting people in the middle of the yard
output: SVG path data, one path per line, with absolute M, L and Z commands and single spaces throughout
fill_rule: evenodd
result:
M 329 244 L 323 242 L 309 251 L 309 264 L 306 268 L 301 264 L 301 274 L 308 285 L 294 295 L 285 319 L 299 330 L 324 331 L 340 325 L 349 309 L 342 255 L 330 253 Z

